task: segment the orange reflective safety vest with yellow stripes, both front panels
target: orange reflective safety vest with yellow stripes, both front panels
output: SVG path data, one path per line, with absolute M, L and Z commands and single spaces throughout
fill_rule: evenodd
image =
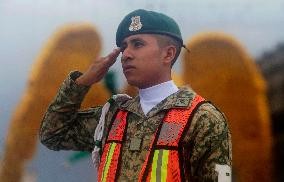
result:
M 185 181 L 181 141 L 190 125 L 191 113 L 203 103 L 197 95 L 189 108 L 170 109 L 158 126 L 139 175 L 141 181 Z M 117 181 L 121 149 L 127 128 L 128 112 L 120 110 L 111 125 L 101 157 L 98 181 Z

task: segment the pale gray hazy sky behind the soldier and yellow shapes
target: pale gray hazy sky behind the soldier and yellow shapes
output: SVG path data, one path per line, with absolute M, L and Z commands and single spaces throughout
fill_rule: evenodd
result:
M 120 20 L 138 8 L 172 16 L 185 41 L 201 32 L 230 34 L 253 57 L 284 41 L 284 0 L 0 0 L 0 155 L 11 113 L 48 37 L 65 24 L 90 22 L 101 34 L 105 55 L 115 47 Z M 113 69 L 120 71 L 120 64 Z M 174 69 L 181 71 L 179 64 Z

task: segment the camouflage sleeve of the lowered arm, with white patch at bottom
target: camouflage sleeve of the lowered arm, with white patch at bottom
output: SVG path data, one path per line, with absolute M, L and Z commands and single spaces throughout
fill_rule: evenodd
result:
M 189 132 L 191 181 L 231 179 L 231 134 L 224 115 L 212 104 L 203 104 L 195 113 Z

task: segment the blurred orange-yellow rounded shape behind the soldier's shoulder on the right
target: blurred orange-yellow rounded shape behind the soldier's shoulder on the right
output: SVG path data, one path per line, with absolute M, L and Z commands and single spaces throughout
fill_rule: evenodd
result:
M 271 181 L 271 126 L 266 84 L 237 40 L 203 33 L 187 43 L 183 78 L 227 116 L 238 182 Z

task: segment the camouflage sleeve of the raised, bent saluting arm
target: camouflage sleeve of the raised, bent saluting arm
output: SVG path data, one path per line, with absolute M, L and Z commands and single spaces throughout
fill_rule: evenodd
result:
M 51 104 L 40 127 L 42 144 L 52 150 L 91 151 L 94 146 L 94 131 L 101 107 L 79 111 L 81 102 L 89 90 L 77 85 L 74 80 L 80 72 L 71 72 Z

